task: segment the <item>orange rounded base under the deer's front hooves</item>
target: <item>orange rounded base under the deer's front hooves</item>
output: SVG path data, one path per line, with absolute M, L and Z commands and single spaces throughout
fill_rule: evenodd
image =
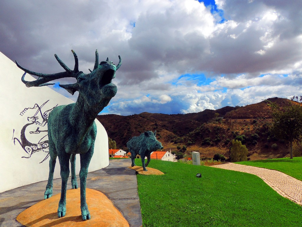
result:
M 83 221 L 80 208 L 80 189 L 69 189 L 66 193 L 66 216 L 58 218 L 57 209 L 61 194 L 56 194 L 27 208 L 17 217 L 25 226 L 98 226 L 129 227 L 123 215 L 113 206 L 103 193 L 86 189 L 86 202 L 91 215 L 90 220 Z

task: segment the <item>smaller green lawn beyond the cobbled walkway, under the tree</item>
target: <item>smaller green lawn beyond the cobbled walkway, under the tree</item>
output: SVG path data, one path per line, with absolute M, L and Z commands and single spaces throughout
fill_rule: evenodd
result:
M 293 159 L 266 159 L 236 163 L 247 166 L 257 166 L 266 169 L 275 169 L 298 180 L 302 180 L 302 157 L 294 157 Z

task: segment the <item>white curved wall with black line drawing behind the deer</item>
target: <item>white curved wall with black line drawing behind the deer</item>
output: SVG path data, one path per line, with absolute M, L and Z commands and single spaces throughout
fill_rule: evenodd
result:
M 29 156 L 26 152 L 26 148 L 30 150 L 30 146 L 22 148 L 18 140 L 20 140 L 22 144 L 26 143 L 21 141 L 21 131 L 26 124 L 30 123 L 32 124 L 28 125 L 24 133 L 22 133 L 28 141 L 27 143 L 37 144 L 48 140 L 47 124 L 45 126 L 43 126 L 43 124 L 39 125 L 39 123 L 42 123 L 42 117 L 39 117 L 40 113 L 37 113 L 38 108 L 33 108 L 35 104 L 40 106 L 43 114 L 57 104 L 62 105 L 73 102 L 47 86 L 26 87 L 25 84 L 21 82 L 23 73 L 24 71 L 19 69 L 14 62 L 0 52 L 0 79 L 2 85 L 0 90 L 0 192 L 48 179 L 49 158 L 43 161 L 48 154 L 48 148 L 43 148 L 43 150 L 37 149 L 38 151 L 32 153 L 30 158 L 21 158 L 22 156 Z M 26 74 L 26 80 L 31 80 L 31 78 L 33 77 Z M 46 102 L 47 100 L 49 101 Z M 43 107 L 41 107 L 42 105 Z M 20 114 L 25 108 L 28 109 Z M 38 122 L 37 124 L 36 122 L 28 121 L 27 117 L 33 116 L 39 117 L 36 120 L 36 122 Z M 89 172 L 104 168 L 109 164 L 108 136 L 101 123 L 99 123 L 98 120 L 95 120 L 95 122 L 97 124 L 98 133 L 95 141 L 94 154 L 88 169 Z M 37 131 L 38 127 L 38 133 L 30 133 Z M 16 139 L 14 140 L 13 138 Z M 40 146 L 42 146 L 42 144 L 40 144 Z M 44 143 L 44 146 L 47 146 L 47 143 Z M 43 162 L 40 163 L 41 161 Z M 76 174 L 79 174 L 79 170 L 80 156 L 77 155 Z M 54 178 L 60 178 L 58 159 Z

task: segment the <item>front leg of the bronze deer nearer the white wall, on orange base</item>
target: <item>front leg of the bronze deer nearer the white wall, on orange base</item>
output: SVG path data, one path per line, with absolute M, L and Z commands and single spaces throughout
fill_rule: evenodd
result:
M 61 198 L 58 207 L 58 217 L 64 217 L 66 215 L 66 189 L 67 181 L 69 177 L 69 159 L 70 154 L 65 153 L 64 150 L 58 152 L 60 168 L 61 168 L 61 178 L 62 178 L 62 188 L 61 188 Z

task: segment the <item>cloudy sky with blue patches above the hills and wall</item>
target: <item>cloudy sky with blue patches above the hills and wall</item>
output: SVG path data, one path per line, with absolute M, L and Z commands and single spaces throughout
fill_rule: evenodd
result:
M 301 0 L 2 0 L 0 51 L 43 73 L 123 64 L 102 114 L 192 113 L 302 95 Z M 21 75 L 20 75 L 21 77 Z M 76 100 L 56 81 L 52 88 Z M 30 89 L 30 88 L 29 88 Z

